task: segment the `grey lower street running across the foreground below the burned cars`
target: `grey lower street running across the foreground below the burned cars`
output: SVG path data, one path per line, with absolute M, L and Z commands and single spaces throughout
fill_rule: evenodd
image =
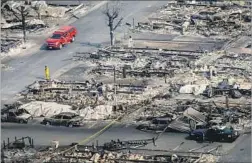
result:
M 13 141 L 15 136 L 17 138 L 30 136 L 34 138 L 34 144 L 38 146 L 49 145 L 52 140 L 58 140 L 60 145 L 69 145 L 88 138 L 89 136 L 101 130 L 102 127 L 103 126 L 90 129 L 87 127 L 68 128 L 63 126 L 44 126 L 40 124 L 2 123 L 1 139 L 7 141 L 7 138 L 10 138 L 10 141 Z M 139 131 L 135 129 L 134 126 L 116 124 L 103 134 L 95 137 L 95 139 L 92 139 L 89 144 L 91 145 L 92 143 L 96 143 L 96 140 L 98 140 L 99 145 L 102 145 L 103 143 L 109 142 L 111 140 L 141 140 L 151 139 L 155 136 L 157 136 L 156 133 Z M 216 148 L 218 145 L 223 145 L 222 152 L 230 152 L 221 158 L 221 162 L 249 163 L 251 158 L 250 134 L 241 135 L 234 143 L 197 143 L 193 140 L 186 140 L 186 137 L 187 134 L 184 133 L 163 133 L 156 141 L 156 146 L 149 144 L 144 148 L 172 150 L 184 142 L 184 144 L 177 150 L 188 151 L 190 149 L 197 149 L 195 150 L 196 152 L 207 152 L 210 149 Z

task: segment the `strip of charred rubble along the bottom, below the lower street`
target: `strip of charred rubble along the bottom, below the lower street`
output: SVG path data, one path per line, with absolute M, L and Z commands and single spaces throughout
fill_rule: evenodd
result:
M 26 142 L 26 139 L 28 142 Z M 2 161 L 8 163 L 12 158 L 14 162 L 36 163 L 36 162 L 216 162 L 217 156 L 214 152 L 186 152 L 186 151 L 160 151 L 140 149 L 147 144 L 154 143 L 155 138 L 146 140 L 129 140 L 104 143 L 99 146 L 79 145 L 72 143 L 70 146 L 60 146 L 58 141 L 52 141 L 51 146 L 34 146 L 33 139 L 22 137 L 6 144 L 3 141 L 1 150 Z M 138 148 L 138 149 L 137 149 Z

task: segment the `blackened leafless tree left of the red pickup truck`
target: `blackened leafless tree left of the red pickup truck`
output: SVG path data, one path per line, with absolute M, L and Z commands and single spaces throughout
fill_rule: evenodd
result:
M 13 15 L 18 19 L 18 21 L 22 22 L 22 30 L 23 30 L 23 40 L 26 42 L 26 23 L 25 18 L 29 14 L 27 8 L 25 6 L 18 6 L 15 9 L 11 9 Z

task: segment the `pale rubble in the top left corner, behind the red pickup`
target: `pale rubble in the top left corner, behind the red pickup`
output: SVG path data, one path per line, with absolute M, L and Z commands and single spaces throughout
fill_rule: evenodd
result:
M 26 29 L 35 32 L 47 27 L 55 26 L 59 20 L 67 19 L 68 13 L 75 11 L 76 6 L 50 6 L 46 1 L 31 1 L 30 4 L 24 1 L 7 1 L 1 6 L 1 29 L 3 33 L 19 33 L 22 30 L 20 6 L 25 7 Z M 79 5 L 78 9 L 85 7 Z M 70 14 L 71 15 L 71 14 Z

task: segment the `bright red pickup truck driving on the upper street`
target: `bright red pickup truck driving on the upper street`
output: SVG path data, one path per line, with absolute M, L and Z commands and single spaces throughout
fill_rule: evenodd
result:
M 64 26 L 46 40 L 47 49 L 61 49 L 64 45 L 74 42 L 77 30 L 73 26 Z

